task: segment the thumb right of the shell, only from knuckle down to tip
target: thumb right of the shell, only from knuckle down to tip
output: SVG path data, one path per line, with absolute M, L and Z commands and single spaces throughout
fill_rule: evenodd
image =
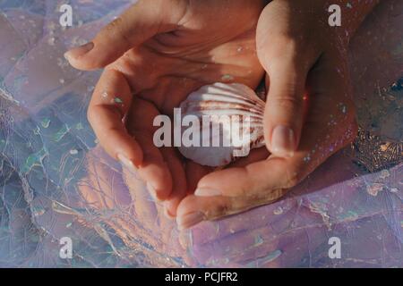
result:
M 308 71 L 296 66 L 292 60 L 280 60 L 268 70 L 270 88 L 264 112 L 264 138 L 274 156 L 294 156 L 304 125 Z

